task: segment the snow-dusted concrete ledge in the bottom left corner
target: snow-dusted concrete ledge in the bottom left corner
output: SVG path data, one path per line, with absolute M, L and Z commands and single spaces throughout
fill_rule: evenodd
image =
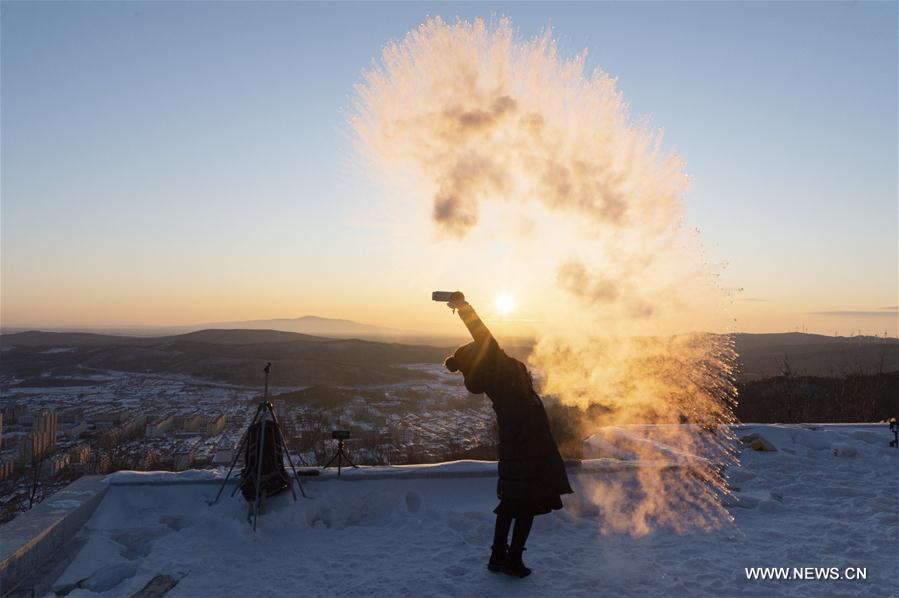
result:
M 75 480 L 0 527 L 0 596 L 15 592 L 78 533 L 109 488 L 103 476 Z

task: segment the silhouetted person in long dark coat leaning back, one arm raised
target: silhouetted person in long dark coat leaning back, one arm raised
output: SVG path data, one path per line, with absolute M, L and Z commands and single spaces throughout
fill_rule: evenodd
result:
M 571 485 L 527 367 L 500 349 L 462 293 L 454 293 L 448 305 L 458 311 L 474 342 L 448 357 L 446 368 L 462 373 L 469 392 L 487 394 L 499 428 L 496 495 L 500 502 L 494 510 L 496 528 L 487 568 L 525 577 L 531 570 L 521 555 L 534 516 L 561 509 L 560 496 L 570 494 Z

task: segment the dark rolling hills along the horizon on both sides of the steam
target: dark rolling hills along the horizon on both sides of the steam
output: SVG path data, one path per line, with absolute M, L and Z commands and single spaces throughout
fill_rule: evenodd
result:
M 737 334 L 742 375 L 841 377 L 899 371 L 899 341 L 814 334 Z M 235 384 L 255 383 L 271 361 L 284 385 L 380 384 L 421 377 L 409 363 L 440 363 L 451 351 L 428 345 L 335 339 L 258 329 L 209 329 L 137 337 L 84 332 L 28 331 L 0 335 L 0 375 L 77 376 L 90 370 L 178 373 Z M 509 350 L 512 351 L 512 347 Z M 528 347 L 514 351 L 524 358 Z

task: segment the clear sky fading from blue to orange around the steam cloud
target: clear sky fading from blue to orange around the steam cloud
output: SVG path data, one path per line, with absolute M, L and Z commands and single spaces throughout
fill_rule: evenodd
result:
M 617 78 L 685 160 L 687 224 L 739 289 L 737 330 L 897 334 L 896 3 L 0 11 L 4 327 L 314 314 L 443 329 L 428 298 L 464 284 L 433 261 L 452 248 L 413 255 L 347 125 L 384 44 L 442 15 L 551 26 Z

